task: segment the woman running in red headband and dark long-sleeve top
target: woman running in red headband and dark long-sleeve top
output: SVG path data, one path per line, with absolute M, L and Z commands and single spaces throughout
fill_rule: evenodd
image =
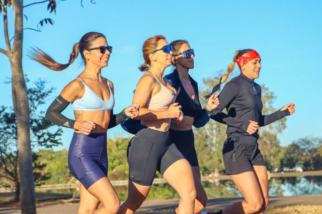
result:
M 254 82 L 254 79 L 259 77 L 260 60 L 259 54 L 254 50 L 237 51 L 227 73 L 221 77 L 219 84 L 212 91 L 214 93 L 220 88 L 220 84 L 227 80 L 237 62 L 241 74 L 225 85 L 219 95 L 220 105 L 213 113 L 226 108 L 228 115 L 236 121 L 250 121 L 240 127 L 228 125 L 227 140 L 223 147 L 226 173 L 232 178 L 244 200 L 216 214 L 264 213 L 268 205 L 268 178 L 265 161 L 258 149 L 258 127 L 295 112 L 295 105 L 287 104 L 274 113 L 262 115 L 261 87 Z M 253 125 L 249 125 L 250 123 Z M 247 132 L 249 126 L 253 134 Z

